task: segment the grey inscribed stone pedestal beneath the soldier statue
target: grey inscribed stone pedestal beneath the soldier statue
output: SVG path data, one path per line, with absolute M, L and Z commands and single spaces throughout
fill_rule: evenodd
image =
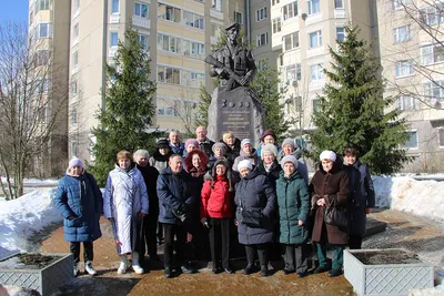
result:
M 219 142 L 223 132 L 231 131 L 239 140 L 248 137 L 258 147 L 263 132 L 262 105 L 252 95 L 244 86 L 231 91 L 216 88 L 208 113 L 208 137 Z

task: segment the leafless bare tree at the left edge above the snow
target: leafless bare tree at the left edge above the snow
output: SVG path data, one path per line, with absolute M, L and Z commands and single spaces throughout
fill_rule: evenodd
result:
M 0 170 L 7 198 L 23 194 L 26 173 L 42 165 L 33 162 L 65 139 L 65 73 L 54 62 L 50 39 L 34 40 L 26 23 L 0 24 Z

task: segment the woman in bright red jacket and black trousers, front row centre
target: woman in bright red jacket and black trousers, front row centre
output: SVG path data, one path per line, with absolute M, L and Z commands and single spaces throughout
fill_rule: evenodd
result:
M 213 274 L 222 272 L 222 268 L 233 274 L 230 268 L 230 223 L 234 195 L 229 167 L 225 160 L 218 160 L 211 172 L 212 180 L 205 181 L 201 193 L 201 222 L 210 228 Z

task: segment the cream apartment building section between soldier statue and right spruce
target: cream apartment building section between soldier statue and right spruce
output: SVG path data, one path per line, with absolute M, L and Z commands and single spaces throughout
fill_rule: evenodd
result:
M 344 40 L 347 22 L 372 39 L 367 0 L 271 0 L 272 50 L 278 58 L 281 88 L 286 86 L 285 114 L 300 135 L 315 129 L 311 116 L 325 84 L 323 69 L 332 61 L 329 47 Z

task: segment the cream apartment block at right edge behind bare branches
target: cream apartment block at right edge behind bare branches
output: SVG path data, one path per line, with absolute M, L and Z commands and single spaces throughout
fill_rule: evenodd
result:
M 407 120 L 404 144 L 417 159 L 408 172 L 442 172 L 444 166 L 444 31 L 443 3 L 424 0 L 377 1 L 379 51 L 384 95 Z

